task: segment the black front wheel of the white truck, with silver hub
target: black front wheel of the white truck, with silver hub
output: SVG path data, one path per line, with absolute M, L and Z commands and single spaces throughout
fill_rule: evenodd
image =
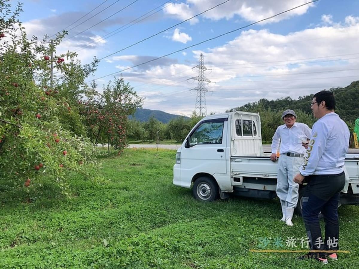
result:
M 214 201 L 219 194 L 218 185 L 214 179 L 201 176 L 193 184 L 192 194 L 197 200 L 203 202 Z

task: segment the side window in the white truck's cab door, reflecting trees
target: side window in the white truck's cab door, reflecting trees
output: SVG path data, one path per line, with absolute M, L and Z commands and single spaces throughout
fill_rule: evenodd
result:
M 222 144 L 224 122 L 204 122 L 192 133 L 190 146 L 196 144 Z

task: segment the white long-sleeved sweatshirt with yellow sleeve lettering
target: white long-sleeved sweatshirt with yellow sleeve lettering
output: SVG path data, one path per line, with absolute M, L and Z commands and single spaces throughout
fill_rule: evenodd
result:
M 339 115 L 331 112 L 313 125 L 311 141 L 300 166 L 300 174 L 336 175 L 344 170 L 349 148 L 349 128 Z

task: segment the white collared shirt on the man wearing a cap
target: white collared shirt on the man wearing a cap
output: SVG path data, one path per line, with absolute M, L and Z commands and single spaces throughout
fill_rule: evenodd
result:
M 292 152 L 297 154 L 306 153 L 306 148 L 302 146 L 301 137 L 310 138 L 311 128 L 307 124 L 295 122 L 291 128 L 285 124 L 279 126 L 272 137 L 272 153 L 277 153 L 280 143 L 280 154 Z

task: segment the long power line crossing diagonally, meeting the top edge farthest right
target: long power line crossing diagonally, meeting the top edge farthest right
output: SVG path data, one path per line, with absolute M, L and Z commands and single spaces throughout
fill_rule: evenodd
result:
M 229 32 L 220 34 L 219 36 L 215 36 L 215 37 L 213 37 L 213 38 L 206 39 L 206 40 L 204 40 L 204 41 L 201 41 L 201 42 L 199 42 L 199 43 L 193 44 L 193 45 L 191 45 L 191 46 L 188 46 L 188 47 L 185 47 L 185 48 L 182 48 L 182 49 L 178 49 L 177 51 L 168 53 L 168 54 L 166 54 L 166 55 L 163 55 L 163 56 L 154 58 L 154 59 L 152 59 L 152 60 L 149 60 L 149 61 L 146 61 L 146 62 L 143 62 L 143 63 L 139 63 L 138 65 L 134 65 L 134 66 L 131 66 L 131 67 L 127 67 L 126 69 L 122 69 L 122 70 L 120 70 L 120 71 L 113 72 L 113 73 L 111 73 L 111 74 L 108 74 L 108 75 L 105 75 L 105 76 L 102 76 L 102 77 L 98 77 L 97 79 L 94 79 L 94 80 L 102 79 L 102 78 L 107 77 L 107 76 L 112 76 L 112 75 L 118 74 L 118 73 L 120 73 L 120 72 L 129 70 L 129 69 L 132 69 L 132 68 L 134 68 L 134 67 L 141 66 L 141 65 L 145 65 L 146 63 L 149 63 L 149 62 L 157 61 L 157 60 L 159 60 L 159 59 L 161 59 L 161 58 L 167 57 L 167 56 L 172 55 L 172 54 L 174 54 L 174 53 L 177 53 L 177 52 L 180 52 L 180 51 L 184 51 L 185 49 L 198 46 L 198 45 L 200 45 L 200 44 L 202 44 L 202 43 L 205 43 L 205 42 L 214 40 L 214 39 L 216 39 L 216 38 L 225 36 L 225 35 L 230 34 L 230 33 L 234 33 L 234 32 L 236 32 L 236 31 L 238 31 L 238 30 L 241 30 L 241 29 L 250 27 L 250 26 L 252 26 L 252 25 L 254 25 L 254 24 L 257 24 L 257 23 L 260 23 L 260 22 L 264 22 L 265 20 L 272 19 L 272 18 L 274 18 L 274 17 L 276 17 L 276 16 L 279 16 L 279 15 L 284 14 L 284 13 L 286 13 L 286 12 L 292 11 L 292 10 L 294 10 L 294 9 L 300 8 L 300 7 L 304 6 L 304 5 L 308 5 L 308 4 L 317 2 L 317 1 L 319 1 L 319 0 L 313 0 L 313 1 L 311 1 L 311 2 L 308 2 L 308 3 L 302 4 L 302 5 L 296 6 L 296 7 L 294 7 L 294 8 L 287 9 L 287 10 L 282 11 L 282 12 L 280 12 L 280 13 L 277 13 L 277 14 L 275 14 L 275 15 L 269 16 L 269 17 L 267 17 L 267 18 L 265 18 L 265 19 L 261 19 L 261 20 L 258 20 L 258 21 L 256 21 L 256 22 L 254 22 L 254 23 L 250 23 L 250 24 L 247 24 L 247 25 L 245 25 L 245 26 L 243 26 L 243 27 L 239 27 L 239 28 L 234 29 L 234 30 L 232 30 L 232 31 L 229 31 Z

